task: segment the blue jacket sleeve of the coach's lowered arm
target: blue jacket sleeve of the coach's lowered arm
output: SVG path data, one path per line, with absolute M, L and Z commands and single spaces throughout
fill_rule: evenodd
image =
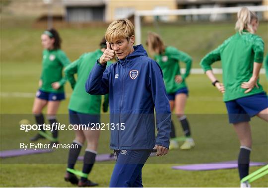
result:
M 152 61 L 150 64 L 149 82 L 156 113 L 156 128 L 158 131 L 155 144 L 169 148 L 171 113 L 163 73 L 156 62 Z

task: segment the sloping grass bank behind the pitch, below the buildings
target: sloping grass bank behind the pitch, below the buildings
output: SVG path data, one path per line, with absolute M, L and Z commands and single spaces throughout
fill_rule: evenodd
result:
M 2 16 L 1 45 L 4 47 L 1 48 L 2 63 L 40 65 L 42 54 L 40 34 L 43 29 L 33 28 L 29 20 L 32 18 L 27 17 L 25 24 L 22 25 L 24 23 L 22 18 Z M 82 53 L 95 50 L 105 30 L 105 27 L 60 28 L 63 50 L 69 59 L 74 61 Z M 200 67 L 199 62 L 206 53 L 235 33 L 234 23 L 160 25 L 159 30 L 152 26 L 144 26 L 141 31 L 143 44 L 148 31 L 160 32 L 166 45 L 174 46 L 191 55 L 194 67 Z M 265 44 L 268 44 L 267 33 L 268 22 L 261 22 L 257 34 L 263 38 Z M 265 52 L 267 51 L 266 47 Z

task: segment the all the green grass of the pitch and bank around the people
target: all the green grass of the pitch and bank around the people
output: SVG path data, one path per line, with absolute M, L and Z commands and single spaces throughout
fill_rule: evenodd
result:
M 13 22 L 10 22 L 13 21 Z M 1 57 L 0 57 L 0 150 L 17 149 L 20 142 L 29 143 L 34 131 L 19 130 L 18 122 L 28 119 L 34 123 L 31 115 L 32 97 L 13 96 L 17 93 L 34 94 L 38 88 L 41 72 L 40 34 L 42 29 L 31 27 L 32 18 L 2 18 Z M 161 26 L 160 32 L 167 45 L 172 45 L 190 54 L 194 67 L 199 67 L 201 58 L 232 35 L 233 23 L 187 24 L 179 26 Z M 61 28 L 63 50 L 71 61 L 82 53 L 95 50 L 105 28 Z M 153 27 L 143 27 L 142 36 Z M 267 22 L 261 23 L 258 34 L 268 43 Z M 174 37 L 174 33 L 176 34 Z M 194 40 L 193 40 L 194 39 Z M 220 63 L 215 64 L 216 67 Z M 217 75 L 221 80 L 221 75 Z M 216 171 L 172 170 L 179 164 L 208 163 L 236 160 L 239 141 L 232 125 L 228 124 L 225 105 L 221 94 L 211 86 L 204 74 L 193 74 L 187 79 L 190 96 L 186 114 L 189 118 L 193 137 L 197 143 L 190 151 L 172 150 L 164 157 L 150 157 L 143 168 L 143 186 L 145 187 L 238 187 L 237 169 Z M 261 84 L 267 90 L 265 75 L 261 75 Z M 67 96 L 71 94 L 66 85 Z M 68 100 L 61 103 L 58 119 L 68 124 Z M 177 134 L 182 135 L 181 127 L 175 120 Z M 108 122 L 108 115 L 102 116 L 102 122 Z M 254 118 L 251 122 L 253 134 L 252 161 L 268 162 L 268 126 Z M 74 138 L 72 131 L 60 131 L 61 143 L 70 143 Z M 48 143 L 43 140 L 42 143 Z M 99 141 L 99 153 L 109 153 L 109 131 L 102 131 Z M 82 149 L 81 155 L 84 149 Z M 0 187 L 73 187 L 63 179 L 66 171 L 67 149 L 57 149 L 52 153 L 20 156 L 0 159 Z M 114 162 L 95 164 L 89 178 L 108 187 Z M 82 168 L 78 162 L 76 169 Z M 260 167 L 250 168 L 253 172 Z M 267 177 L 252 183 L 253 187 L 268 187 Z

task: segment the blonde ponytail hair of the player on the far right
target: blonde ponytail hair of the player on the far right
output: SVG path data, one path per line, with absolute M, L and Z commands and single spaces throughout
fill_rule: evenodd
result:
M 251 22 L 254 19 L 258 21 L 257 14 L 253 11 L 250 11 L 247 7 L 242 7 L 237 13 L 235 29 L 240 34 L 243 33 L 243 29 L 247 29 L 249 32 L 253 32 Z

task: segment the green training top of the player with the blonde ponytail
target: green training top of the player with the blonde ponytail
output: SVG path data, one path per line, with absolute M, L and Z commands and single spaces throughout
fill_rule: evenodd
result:
M 225 40 L 218 48 L 208 53 L 201 60 L 204 71 L 211 70 L 211 64 L 220 61 L 223 71 L 223 85 L 225 93 L 223 101 L 231 101 L 241 97 L 263 92 L 263 87 L 257 81 L 259 88 L 254 87 L 251 92 L 244 93 L 241 88 L 243 82 L 249 81 L 253 73 L 253 64 L 263 63 L 264 41 L 258 35 L 243 30 Z

